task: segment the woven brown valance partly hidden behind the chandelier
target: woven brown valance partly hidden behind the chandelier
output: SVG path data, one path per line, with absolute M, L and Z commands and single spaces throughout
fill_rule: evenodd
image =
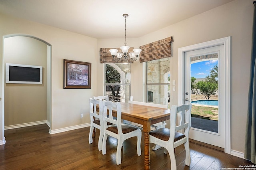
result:
M 100 48 L 100 63 L 119 63 L 118 61 L 114 61 L 111 53 L 109 52 L 110 49 L 113 48 Z M 122 51 L 120 48 L 114 48 L 118 49 L 118 51 Z M 134 47 L 130 47 L 128 52 L 133 52 L 132 50 Z

